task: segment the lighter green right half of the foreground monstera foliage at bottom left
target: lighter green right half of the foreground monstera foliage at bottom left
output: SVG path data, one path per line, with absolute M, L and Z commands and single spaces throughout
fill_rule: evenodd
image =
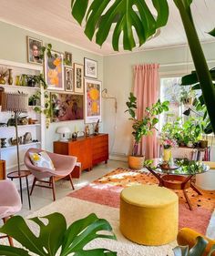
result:
M 89 241 L 97 238 L 116 239 L 114 234 L 98 233 L 101 230 L 111 231 L 112 228 L 107 220 L 98 219 L 95 213 L 88 215 L 87 218 L 75 221 L 67 229 L 60 255 L 66 256 L 71 252 L 83 251 L 83 248 Z

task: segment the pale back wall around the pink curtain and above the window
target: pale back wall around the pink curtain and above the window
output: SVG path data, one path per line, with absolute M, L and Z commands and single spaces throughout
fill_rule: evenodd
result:
M 214 48 L 215 43 L 203 45 L 207 60 L 211 61 L 210 67 L 215 65 Z M 128 53 L 120 56 L 105 56 L 103 87 L 106 87 L 108 93 L 118 99 L 116 125 L 113 102 L 111 100 L 104 102 L 104 131 L 109 132 L 110 145 L 113 145 L 110 149 L 113 155 L 125 156 L 130 153 L 131 149 L 131 122 L 128 120 L 128 114 L 124 111 L 129 92 L 133 90 L 133 67 L 144 63 L 159 63 L 161 76 L 174 76 L 187 74 L 193 68 L 192 65 L 181 65 L 181 63 L 190 62 L 191 57 L 187 46 Z

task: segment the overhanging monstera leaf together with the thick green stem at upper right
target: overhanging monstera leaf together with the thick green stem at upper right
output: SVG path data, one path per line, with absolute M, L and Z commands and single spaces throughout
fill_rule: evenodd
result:
M 215 131 L 215 87 L 205 56 L 200 46 L 190 5 L 193 0 L 172 0 L 179 9 L 179 14 L 188 38 L 189 49 L 193 58 L 196 74 L 200 82 L 202 97 L 210 117 L 211 127 Z M 135 34 L 138 36 L 138 45 L 143 45 L 153 36 L 157 29 L 165 26 L 169 17 L 168 0 L 151 0 L 157 11 L 157 16 L 152 15 L 148 4 L 144 0 L 72 0 L 72 15 L 81 25 L 85 21 L 85 34 L 102 46 L 112 33 L 112 46 L 118 51 L 119 37 L 122 36 L 123 46 L 126 50 L 132 50 L 136 46 Z M 136 33 L 134 33 L 134 31 Z M 215 30 L 210 32 L 215 36 Z

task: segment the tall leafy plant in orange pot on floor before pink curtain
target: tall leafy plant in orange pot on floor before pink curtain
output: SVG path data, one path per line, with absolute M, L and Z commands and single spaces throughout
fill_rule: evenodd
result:
M 135 140 L 132 155 L 128 156 L 128 165 L 131 169 L 142 169 L 144 156 L 138 155 L 139 142 L 143 136 L 151 135 L 153 133 L 153 129 L 157 130 L 156 125 L 158 124 L 159 119 L 156 118 L 156 116 L 161 114 L 163 111 L 169 110 L 169 101 L 164 101 L 161 103 L 160 100 L 158 100 L 150 108 L 145 109 L 145 116 L 141 119 L 136 117 L 137 97 L 135 97 L 133 93 L 130 93 L 128 102 L 126 104 L 128 109 L 125 112 L 130 114 L 131 118 L 129 118 L 129 120 L 133 121 L 132 135 Z

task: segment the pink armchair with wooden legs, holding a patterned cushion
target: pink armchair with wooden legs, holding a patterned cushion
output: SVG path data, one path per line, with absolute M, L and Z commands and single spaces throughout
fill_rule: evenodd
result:
M 55 153 L 46 151 L 46 153 L 48 154 L 50 159 L 52 159 L 53 164 L 56 168 L 55 170 L 46 169 L 46 168 L 36 167 L 35 165 L 33 165 L 31 162 L 30 156 L 29 156 L 29 152 L 39 153 L 41 151 L 44 151 L 44 150 L 38 149 L 38 148 L 29 148 L 26 151 L 26 155 L 24 158 L 26 168 L 29 169 L 31 171 L 31 173 L 35 176 L 30 195 L 32 194 L 35 186 L 38 186 L 38 187 L 42 187 L 42 188 L 52 189 L 53 200 L 56 200 L 56 186 L 55 186 L 56 180 L 68 177 L 71 182 L 72 189 L 75 189 L 73 182 L 72 182 L 71 173 L 76 166 L 77 157 L 64 156 L 64 155 L 59 155 L 59 154 L 55 154 Z M 49 181 L 43 180 L 46 178 L 49 178 Z M 46 183 L 48 185 L 45 186 L 45 185 L 41 185 L 41 184 L 36 184 L 36 181 Z

